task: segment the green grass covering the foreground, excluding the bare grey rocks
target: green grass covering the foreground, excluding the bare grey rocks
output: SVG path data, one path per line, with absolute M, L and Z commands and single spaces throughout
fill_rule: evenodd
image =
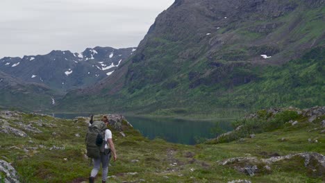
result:
M 124 123 L 126 137 L 113 130 L 118 161 L 110 162 L 109 175 L 115 175 L 117 178 L 110 178 L 109 182 L 136 182 L 141 179 L 145 182 L 227 182 L 239 179 L 252 182 L 322 182 L 325 179 L 324 175 L 305 168 L 299 158 L 272 164 L 272 171 L 260 172 L 254 177 L 235 171 L 232 166 L 217 164 L 217 161 L 231 157 L 268 158 L 274 153 L 288 155 L 316 152 L 324 155 L 325 134 L 320 133 L 320 123 L 325 116 L 310 123 L 292 110 L 275 115 L 262 110 L 258 112 L 258 119 L 260 121 L 254 123 L 247 120 L 235 123 L 257 127 L 253 128 L 256 130 L 256 137 L 253 139 L 241 137 L 244 138 L 242 141 L 233 139 L 228 143 L 201 143 L 196 146 L 168 143 L 163 139 L 151 141 Z M 263 119 L 265 121 L 262 123 Z M 291 119 L 298 120 L 298 125 L 285 123 Z M 0 134 L 0 157 L 12 162 L 22 182 L 87 181 L 92 167 L 89 166 L 89 159 L 84 157 L 84 138 L 88 126 L 84 119 L 73 121 L 54 119 L 51 116 L 19 114 L 17 119 L 12 119 L 9 123 L 19 128 L 15 125 L 16 121 L 22 121 L 24 124 L 43 121 L 45 124 L 42 127 L 33 125 L 43 133 L 28 132 L 27 138 Z M 276 128 L 273 125 L 265 127 L 271 123 L 279 125 Z M 315 128 L 317 130 L 314 130 Z M 81 134 L 81 137 L 76 137 L 76 133 Z M 282 138 L 285 138 L 285 141 L 281 141 Z M 318 143 L 308 142 L 308 139 L 315 138 L 318 138 Z M 40 145 L 46 148 L 40 148 Z M 52 146 L 65 149 L 49 150 Z M 28 147 L 38 149 L 29 149 L 27 152 L 24 148 Z M 131 162 L 133 159 L 138 159 L 138 162 Z M 138 174 L 128 174 L 135 172 Z M 98 178 L 97 182 L 99 180 Z

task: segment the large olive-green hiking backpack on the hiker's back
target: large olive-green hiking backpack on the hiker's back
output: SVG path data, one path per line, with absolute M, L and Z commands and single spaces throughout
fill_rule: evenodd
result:
M 88 127 L 85 139 L 88 157 L 99 158 L 100 154 L 104 152 L 106 129 L 106 124 L 103 121 L 94 121 Z

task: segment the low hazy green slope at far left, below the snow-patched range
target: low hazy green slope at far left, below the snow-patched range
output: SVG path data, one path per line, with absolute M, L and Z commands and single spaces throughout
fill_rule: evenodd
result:
M 21 110 L 47 110 L 56 103 L 58 93 L 45 85 L 23 82 L 0 71 L 0 107 Z

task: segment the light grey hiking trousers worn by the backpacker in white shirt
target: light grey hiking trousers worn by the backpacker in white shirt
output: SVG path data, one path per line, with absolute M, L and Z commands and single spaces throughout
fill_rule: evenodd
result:
M 93 160 L 94 160 L 94 168 L 92 168 L 92 173 L 90 174 L 90 177 L 96 177 L 97 173 L 99 172 L 99 168 L 101 168 L 102 166 L 103 168 L 102 180 L 106 181 L 107 174 L 108 174 L 108 164 L 110 163 L 110 153 L 108 155 L 101 153 L 101 157 Z

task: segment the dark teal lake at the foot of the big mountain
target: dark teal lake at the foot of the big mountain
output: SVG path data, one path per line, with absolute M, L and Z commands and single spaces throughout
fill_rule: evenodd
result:
M 89 114 L 53 114 L 63 119 L 74 119 L 76 116 L 88 116 Z M 225 132 L 232 130 L 231 121 L 220 119 L 217 121 L 198 121 L 172 118 L 147 118 L 139 116 L 126 116 L 128 122 L 139 130 L 144 137 L 149 139 L 165 139 L 173 143 L 194 145 L 200 139 L 216 137 L 213 129 L 221 128 Z

